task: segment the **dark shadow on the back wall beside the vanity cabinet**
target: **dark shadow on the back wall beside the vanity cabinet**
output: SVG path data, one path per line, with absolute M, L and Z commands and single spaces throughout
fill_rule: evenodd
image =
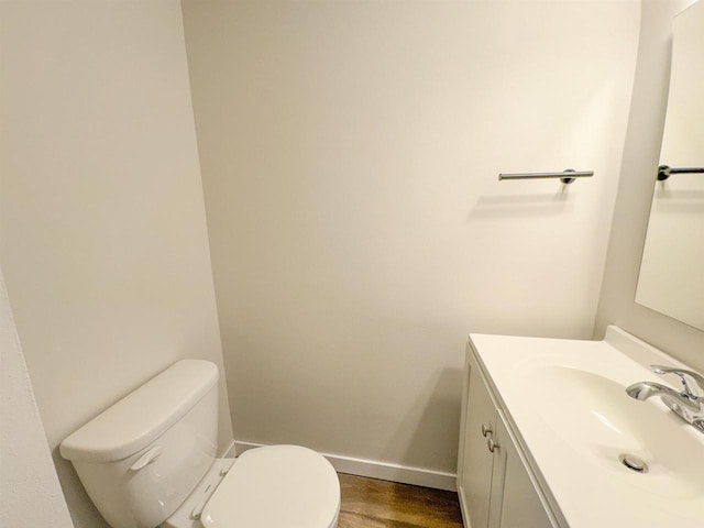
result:
M 462 369 L 438 370 L 414 402 L 411 411 L 402 420 L 393 435 L 382 460 L 413 461 L 421 470 L 447 472 L 458 465 L 460 441 L 460 413 L 462 409 Z M 419 413 L 419 409 L 422 411 Z

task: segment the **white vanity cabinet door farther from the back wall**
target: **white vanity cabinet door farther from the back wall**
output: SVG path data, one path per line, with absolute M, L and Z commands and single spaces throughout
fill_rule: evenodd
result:
M 552 528 L 501 413 L 494 439 L 494 472 L 488 528 Z

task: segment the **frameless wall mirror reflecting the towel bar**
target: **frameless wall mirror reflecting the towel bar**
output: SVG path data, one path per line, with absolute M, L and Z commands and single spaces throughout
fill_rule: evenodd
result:
M 704 330 L 704 0 L 674 18 L 673 35 L 636 302 Z

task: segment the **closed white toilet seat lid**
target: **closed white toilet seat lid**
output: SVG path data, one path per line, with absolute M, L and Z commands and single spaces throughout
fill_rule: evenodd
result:
M 202 510 L 206 528 L 333 528 L 340 481 L 322 455 L 298 446 L 242 453 Z

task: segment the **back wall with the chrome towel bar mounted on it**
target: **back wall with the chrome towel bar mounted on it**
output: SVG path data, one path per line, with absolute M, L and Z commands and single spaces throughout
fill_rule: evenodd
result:
M 591 337 L 638 20 L 184 1 L 235 438 L 452 473 L 468 332 Z

